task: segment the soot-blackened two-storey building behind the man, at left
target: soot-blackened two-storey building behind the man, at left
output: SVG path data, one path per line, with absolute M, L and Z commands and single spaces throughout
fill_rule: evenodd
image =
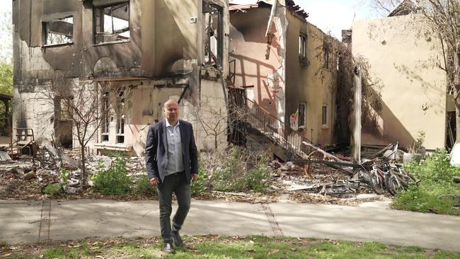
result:
M 59 107 L 83 94 L 81 110 L 96 119 L 91 148 L 140 156 L 148 125 L 176 98 L 200 148 L 225 142 L 199 122 L 226 107 L 228 13 L 224 0 L 13 0 L 13 127 L 78 147 L 72 114 Z M 62 88 L 69 94 L 47 94 Z

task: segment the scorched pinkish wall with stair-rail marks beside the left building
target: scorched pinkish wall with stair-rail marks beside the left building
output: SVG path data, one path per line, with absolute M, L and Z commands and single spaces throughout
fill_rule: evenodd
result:
M 272 43 L 267 44 L 265 32 L 270 11 L 270 7 L 249 9 L 248 13 L 232 11 L 229 52 L 230 59 L 236 62 L 235 86 L 254 86 L 248 90 L 248 98 L 276 116 L 272 84 L 268 76 L 283 70 L 284 46 L 280 42 L 282 31 L 277 30 L 276 26 L 272 26 L 271 33 L 275 35 Z M 268 59 L 265 56 L 267 53 Z M 280 81 L 284 84 L 284 78 Z

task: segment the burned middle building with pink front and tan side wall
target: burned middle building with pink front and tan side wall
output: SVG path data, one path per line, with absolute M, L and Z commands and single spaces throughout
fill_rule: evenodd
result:
M 292 0 L 233 0 L 229 10 L 234 86 L 279 120 L 284 137 L 301 136 L 297 148 L 335 144 L 334 39 Z

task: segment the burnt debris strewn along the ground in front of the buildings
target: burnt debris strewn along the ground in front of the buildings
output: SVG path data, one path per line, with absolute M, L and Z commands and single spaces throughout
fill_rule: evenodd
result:
M 50 183 L 62 183 L 62 168 L 69 172 L 66 177 L 67 185 L 64 185 L 67 198 L 151 199 L 142 195 L 100 195 L 91 192 L 91 188 L 82 190 L 79 157 L 78 149 L 57 149 L 50 143 L 44 143 L 40 145 L 35 159 L 19 155 L 16 160 L 0 161 L 0 200 L 51 198 L 44 196 L 42 190 Z M 330 157 L 338 160 L 331 160 Z M 363 159 L 362 163 L 354 163 L 350 157 L 343 154 L 328 156 L 314 151 L 308 160 L 300 162 L 284 163 L 274 159 L 268 163 L 274 173 L 268 190 L 264 193 L 218 192 L 211 189 L 195 198 L 251 203 L 311 202 L 357 205 L 381 200 L 382 195 L 393 195 L 398 190 L 407 188 L 407 185 L 417 183 L 399 164 L 403 151 L 398 149 L 397 144 L 386 146 L 385 149 L 367 157 L 369 159 Z M 110 156 L 88 154 L 86 168 L 89 175 L 97 173 L 98 165 L 110 167 L 115 159 Z M 220 166 L 212 154 L 202 154 L 200 159 L 202 163 L 209 163 L 216 168 Z M 126 168 L 128 175 L 133 177 L 146 174 L 143 157 L 127 158 Z M 372 196 L 357 198 L 362 194 Z

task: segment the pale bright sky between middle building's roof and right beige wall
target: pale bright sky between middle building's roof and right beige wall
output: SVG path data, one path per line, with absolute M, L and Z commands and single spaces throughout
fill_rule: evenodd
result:
M 294 0 L 309 17 L 306 21 L 324 33 L 341 40 L 342 30 L 352 28 L 353 21 L 381 17 L 371 6 L 371 0 Z

